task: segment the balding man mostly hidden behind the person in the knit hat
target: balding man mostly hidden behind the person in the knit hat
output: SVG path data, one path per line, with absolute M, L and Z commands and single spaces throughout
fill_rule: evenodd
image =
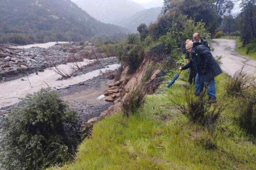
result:
M 206 41 L 206 38 L 205 37 L 200 37 L 199 33 L 194 33 L 193 34 L 193 40 L 192 41 L 198 41 L 200 43 L 200 45 L 205 45 L 207 48 L 210 49 L 210 47 L 208 45 L 208 42 Z M 192 59 L 191 53 L 186 51 L 185 62 L 188 63 L 188 61 L 191 60 L 191 59 Z M 188 72 L 188 82 L 190 84 L 192 84 L 193 80 L 194 80 L 194 83 L 195 83 L 195 77 L 196 77 L 195 68 L 193 66 L 191 66 L 191 68 L 189 69 L 189 72 Z

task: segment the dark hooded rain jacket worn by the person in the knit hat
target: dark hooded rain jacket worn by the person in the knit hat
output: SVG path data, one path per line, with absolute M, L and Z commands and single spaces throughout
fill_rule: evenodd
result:
M 190 60 L 185 66 L 181 67 L 181 69 L 186 70 L 190 68 L 193 64 L 192 62 L 195 64 L 200 82 L 207 82 L 211 78 L 222 73 L 220 66 L 211 54 L 210 49 L 205 45 L 200 45 L 198 41 L 193 42 L 192 60 Z

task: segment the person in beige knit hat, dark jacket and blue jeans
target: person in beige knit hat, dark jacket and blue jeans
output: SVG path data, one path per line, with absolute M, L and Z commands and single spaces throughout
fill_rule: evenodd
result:
M 208 103 L 215 103 L 217 98 L 214 77 L 222 73 L 220 66 L 213 58 L 210 49 L 205 45 L 200 45 L 200 42 L 188 41 L 186 49 L 188 52 L 192 53 L 193 62 L 197 71 L 195 78 L 196 95 L 199 95 L 199 93 L 203 91 L 205 85 L 209 97 Z M 186 70 L 190 68 L 192 64 L 192 60 L 190 60 L 189 63 L 180 67 L 179 70 Z

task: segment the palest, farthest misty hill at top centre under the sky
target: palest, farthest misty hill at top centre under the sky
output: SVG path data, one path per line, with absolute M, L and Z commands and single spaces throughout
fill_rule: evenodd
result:
M 117 24 L 132 14 L 144 10 L 132 0 L 72 0 L 94 18 L 104 23 Z

